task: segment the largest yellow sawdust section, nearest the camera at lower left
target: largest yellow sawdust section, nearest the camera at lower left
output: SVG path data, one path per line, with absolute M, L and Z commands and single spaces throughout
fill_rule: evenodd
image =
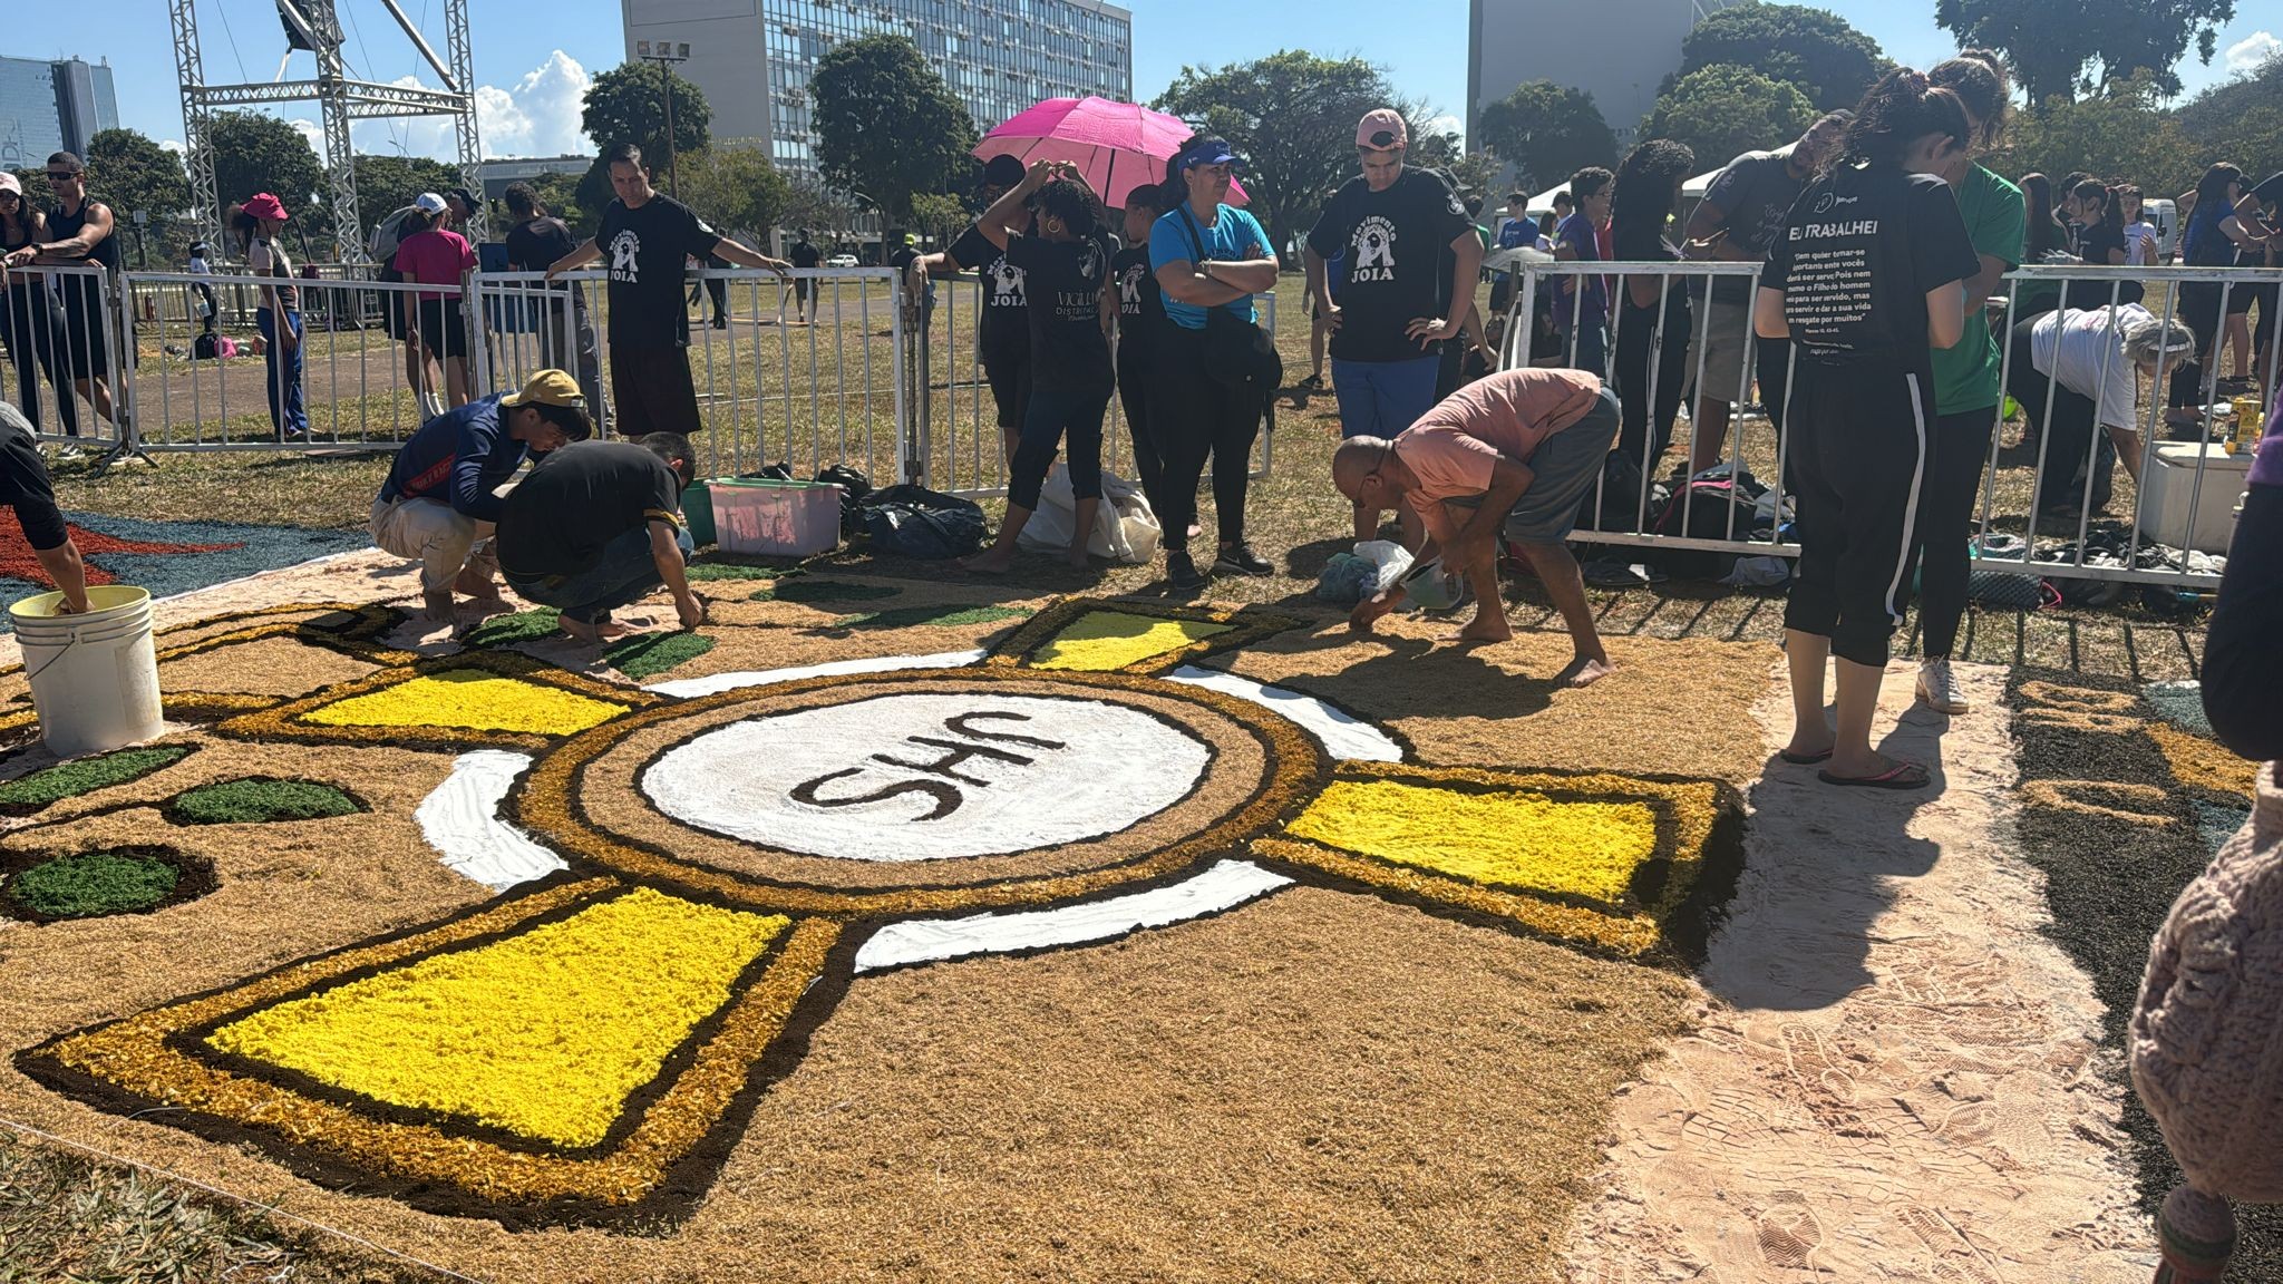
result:
M 785 925 L 637 889 L 267 1008 L 208 1042 L 395 1106 L 587 1147 Z

